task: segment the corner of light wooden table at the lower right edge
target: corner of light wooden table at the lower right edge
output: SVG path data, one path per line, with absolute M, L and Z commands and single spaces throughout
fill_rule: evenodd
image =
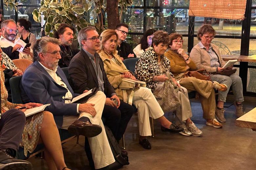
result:
M 236 126 L 247 127 L 256 131 L 256 108 L 236 119 Z

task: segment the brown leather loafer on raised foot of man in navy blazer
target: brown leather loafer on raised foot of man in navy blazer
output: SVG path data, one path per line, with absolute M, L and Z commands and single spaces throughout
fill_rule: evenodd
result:
M 102 128 L 99 125 L 91 124 L 89 121 L 83 122 L 76 120 L 72 125 L 68 127 L 69 133 L 79 136 L 83 135 L 85 137 L 94 137 L 101 133 Z

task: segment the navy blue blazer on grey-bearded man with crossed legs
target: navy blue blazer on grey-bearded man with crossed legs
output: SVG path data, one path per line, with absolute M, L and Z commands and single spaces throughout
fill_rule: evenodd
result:
M 73 98 L 79 94 L 74 93 L 69 82 L 61 70 L 57 68 L 56 74 L 67 85 Z M 65 94 L 68 90 L 58 85 L 46 70 L 37 61 L 32 63 L 21 79 L 21 93 L 24 102 L 48 104 L 45 110 L 53 113 L 58 128 L 62 126 L 63 115 L 77 115 L 77 104 L 65 104 Z

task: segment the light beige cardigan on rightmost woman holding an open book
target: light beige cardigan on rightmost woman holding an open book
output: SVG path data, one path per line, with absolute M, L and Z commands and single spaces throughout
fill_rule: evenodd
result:
M 220 66 L 223 67 L 225 62 L 221 58 L 218 46 L 215 44 L 211 44 L 211 46 L 219 58 Z M 211 67 L 210 55 L 207 53 L 206 49 L 200 48 L 199 44 L 196 44 L 192 48 L 189 57 L 195 62 L 197 69 L 204 68 L 208 73 L 217 72 L 217 67 Z

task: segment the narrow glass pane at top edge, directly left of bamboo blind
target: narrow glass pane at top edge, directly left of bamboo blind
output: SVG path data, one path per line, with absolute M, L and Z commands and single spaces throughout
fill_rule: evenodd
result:
M 177 6 L 177 7 L 188 7 L 189 0 L 146 0 L 146 6 Z

